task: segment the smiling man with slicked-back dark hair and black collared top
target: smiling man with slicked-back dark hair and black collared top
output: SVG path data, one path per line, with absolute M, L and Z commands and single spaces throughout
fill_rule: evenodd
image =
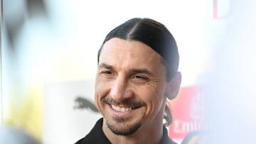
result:
M 98 52 L 95 104 L 103 118 L 80 143 L 174 143 L 167 99 L 181 84 L 178 49 L 161 23 L 132 18 L 106 36 Z M 164 121 L 164 123 L 163 123 Z

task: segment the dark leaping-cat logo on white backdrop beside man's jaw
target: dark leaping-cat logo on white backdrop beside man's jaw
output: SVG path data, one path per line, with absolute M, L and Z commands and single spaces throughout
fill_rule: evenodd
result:
M 75 98 L 75 106 L 74 109 L 91 109 L 93 112 L 99 112 L 95 104 L 91 101 L 83 98 L 82 96 L 77 96 Z

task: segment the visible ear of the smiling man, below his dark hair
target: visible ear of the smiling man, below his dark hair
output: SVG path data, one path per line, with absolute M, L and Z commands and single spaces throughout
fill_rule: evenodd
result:
M 166 97 L 168 99 L 176 98 L 178 90 L 181 87 L 181 72 L 177 72 L 166 87 Z

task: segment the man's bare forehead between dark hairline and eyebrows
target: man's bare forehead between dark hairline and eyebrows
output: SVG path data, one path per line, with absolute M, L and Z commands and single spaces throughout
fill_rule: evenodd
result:
M 161 56 L 148 45 L 137 40 L 123 40 L 120 38 L 112 38 L 103 45 L 99 64 L 102 62 L 124 69 L 164 69 Z

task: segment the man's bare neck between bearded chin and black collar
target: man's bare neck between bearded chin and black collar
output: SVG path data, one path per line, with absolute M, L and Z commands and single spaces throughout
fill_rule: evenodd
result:
M 107 127 L 105 118 L 103 119 L 102 130 L 113 144 L 137 144 L 137 143 L 159 143 L 163 135 L 163 114 L 159 113 L 154 120 L 144 123 L 132 135 L 115 135 Z

